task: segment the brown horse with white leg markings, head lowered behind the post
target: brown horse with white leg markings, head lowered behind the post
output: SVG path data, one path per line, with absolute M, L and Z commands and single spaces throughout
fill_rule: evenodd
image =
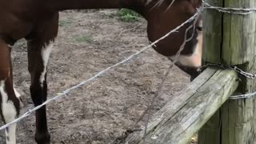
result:
M 59 11 L 121 8 L 134 10 L 146 18 L 148 38 L 150 42 L 154 42 L 195 14 L 201 4 L 201 0 L 0 0 L 0 114 L 3 122 L 14 121 L 20 111 L 21 102 L 13 86 L 10 57 L 12 46 L 21 38 L 25 38 L 27 42 L 30 95 L 34 106 L 46 101 L 46 69 L 54 38 L 58 35 Z M 186 29 L 192 23 L 182 26 L 178 32 L 155 44 L 154 50 L 173 60 L 174 54 L 184 41 Z M 188 31 L 187 37 L 193 38 L 186 43 L 175 63 L 192 78 L 197 75 L 196 68 L 201 65 L 202 26 L 200 22 L 197 23 L 198 30 Z M 37 110 L 35 117 L 35 141 L 38 144 L 50 144 L 46 106 Z M 16 124 L 6 128 L 7 144 L 16 143 L 15 130 Z

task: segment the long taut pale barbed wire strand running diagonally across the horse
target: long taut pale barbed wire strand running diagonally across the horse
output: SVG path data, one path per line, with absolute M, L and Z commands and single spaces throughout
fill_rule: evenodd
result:
M 43 102 L 41 105 L 36 106 L 36 107 L 34 107 L 33 109 L 31 109 L 31 110 L 28 110 L 25 114 L 22 114 L 22 116 L 20 116 L 19 118 L 15 119 L 13 122 L 9 122 L 9 123 L 7 123 L 6 125 L 1 126 L 1 127 L 0 127 L 0 130 L 4 130 L 4 129 L 6 129 L 6 127 L 8 127 L 8 126 L 10 126 L 10 125 L 12 125 L 12 124 L 14 124 L 14 123 L 16 123 L 16 122 L 21 121 L 23 118 L 26 118 L 26 117 L 29 116 L 32 112 L 34 112 L 35 110 L 40 109 L 42 106 L 45 106 L 46 104 L 48 104 L 48 103 L 50 103 L 50 102 L 54 102 L 54 101 L 57 100 L 57 99 L 60 99 L 60 98 L 63 98 L 63 97 L 65 97 L 65 96 L 67 96 L 66 94 L 68 94 L 68 93 L 70 92 L 70 90 L 77 89 L 78 87 L 83 86 L 83 85 L 85 85 L 86 83 L 88 83 L 88 82 L 90 82 L 90 81 L 93 81 L 94 79 L 98 78 L 98 77 L 101 76 L 102 74 L 105 74 L 106 71 L 108 71 L 108 70 L 110 70 L 110 69 L 112 69 L 112 68 L 114 68 L 114 67 L 116 67 L 116 66 L 119 66 L 119 65 L 121 65 L 121 64 L 123 64 L 123 63 L 129 61 L 130 59 L 134 58 L 134 57 L 137 56 L 138 54 L 141 54 L 143 51 L 149 49 L 151 46 L 154 46 L 156 43 L 162 41 L 162 39 L 168 37 L 170 34 L 177 32 L 177 30 L 180 29 L 182 26 L 185 26 L 186 23 L 192 22 L 192 21 L 194 20 L 194 18 L 197 17 L 197 15 L 198 15 L 198 13 L 194 14 L 192 17 L 190 17 L 189 19 L 187 19 L 186 22 L 183 22 L 181 25 L 177 26 L 174 30 L 170 30 L 170 32 L 167 33 L 166 35 L 162 36 L 162 38 L 159 38 L 158 40 L 152 42 L 149 46 L 145 46 L 144 48 L 142 48 L 142 50 L 139 50 L 137 53 L 130 55 L 128 58 L 122 60 L 121 62 L 118 62 L 118 63 L 114 64 L 113 66 L 107 67 L 105 70 L 102 70 L 102 71 L 98 72 L 98 74 L 95 74 L 93 77 L 87 79 L 86 81 L 80 82 L 78 85 L 72 86 L 70 89 L 67 89 L 67 90 L 62 91 L 62 93 L 58 94 L 58 95 L 55 96 L 54 98 L 50 98 L 50 99 L 48 99 L 46 102 Z

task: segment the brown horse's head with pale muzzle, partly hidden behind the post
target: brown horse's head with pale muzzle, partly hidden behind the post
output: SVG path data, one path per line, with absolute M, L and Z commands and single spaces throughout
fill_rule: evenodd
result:
M 187 19 L 197 13 L 198 7 L 201 6 L 201 0 L 148 0 L 147 9 L 144 17 L 147 19 L 147 34 L 150 42 L 154 42 L 163 35 L 180 26 Z M 182 43 L 186 42 L 181 55 L 177 58 L 175 64 L 190 74 L 193 79 L 198 75 L 197 68 L 201 66 L 202 55 L 202 18 L 199 16 L 195 27 L 188 22 L 177 32 L 170 34 L 162 41 L 156 43 L 153 47 L 159 54 L 165 55 L 174 61 L 174 55 L 180 50 Z M 187 30 L 187 32 L 186 32 Z

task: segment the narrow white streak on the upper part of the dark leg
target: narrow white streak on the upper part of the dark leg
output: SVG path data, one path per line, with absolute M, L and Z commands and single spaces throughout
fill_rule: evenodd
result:
M 46 68 L 47 68 L 49 57 L 50 57 L 50 52 L 53 49 L 53 46 L 54 46 L 53 42 L 50 42 L 50 44 L 46 47 L 43 47 L 41 51 L 42 62 L 43 62 L 43 71 L 42 71 L 42 74 L 40 75 L 41 86 L 43 86 L 43 82 L 45 81 Z

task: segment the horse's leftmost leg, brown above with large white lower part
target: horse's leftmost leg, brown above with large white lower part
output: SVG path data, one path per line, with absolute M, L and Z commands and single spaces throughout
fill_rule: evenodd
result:
M 10 46 L 0 40 L 0 109 L 3 122 L 13 122 L 20 110 L 20 101 L 13 87 Z M 16 144 L 16 124 L 6 128 L 6 144 Z

